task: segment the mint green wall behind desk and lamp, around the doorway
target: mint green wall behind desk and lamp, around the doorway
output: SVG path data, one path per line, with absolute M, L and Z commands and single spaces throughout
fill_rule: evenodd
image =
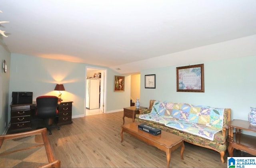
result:
M 86 66 L 107 69 L 106 113 L 129 105 L 129 87 L 125 92 L 114 92 L 114 75 L 120 74 L 112 69 L 16 53 L 11 54 L 9 103 L 12 102 L 12 91 L 32 91 L 35 100 L 40 95 L 57 96 L 54 87 L 56 83 L 63 83 L 66 91 L 62 93 L 62 99 L 74 102 L 72 117 L 84 115 Z M 125 82 L 129 82 L 129 76 L 127 78 Z

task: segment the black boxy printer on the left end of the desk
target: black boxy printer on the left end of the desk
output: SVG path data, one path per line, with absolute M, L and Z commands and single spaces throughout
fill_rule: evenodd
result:
M 32 103 L 33 92 L 12 92 L 12 104 Z

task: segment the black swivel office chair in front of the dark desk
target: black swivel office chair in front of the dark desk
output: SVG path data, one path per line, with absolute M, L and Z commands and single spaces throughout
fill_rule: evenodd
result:
M 50 128 L 58 128 L 60 126 L 56 124 L 49 125 L 49 119 L 53 118 L 56 121 L 58 117 L 58 97 L 56 96 L 39 96 L 36 98 L 36 117 L 45 120 L 45 127 L 49 130 L 49 134 L 52 134 Z

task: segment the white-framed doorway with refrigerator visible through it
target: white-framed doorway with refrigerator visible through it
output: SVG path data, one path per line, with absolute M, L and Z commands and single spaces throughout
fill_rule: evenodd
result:
M 84 116 L 105 113 L 106 72 L 104 68 L 86 67 Z

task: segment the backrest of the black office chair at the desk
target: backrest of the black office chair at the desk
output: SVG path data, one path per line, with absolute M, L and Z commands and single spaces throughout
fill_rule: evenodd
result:
M 39 96 L 36 98 L 36 116 L 49 118 L 58 115 L 58 97 Z

